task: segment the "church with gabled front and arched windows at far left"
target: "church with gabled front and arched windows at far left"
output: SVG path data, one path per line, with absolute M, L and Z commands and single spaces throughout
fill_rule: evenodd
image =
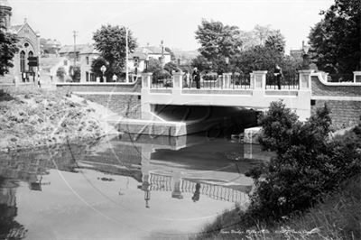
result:
M 39 57 L 40 55 L 40 35 L 33 31 L 26 18 L 23 24 L 12 25 L 12 7 L 7 0 L 0 0 L 0 11 L 2 15 L 1 23 L 4 24 L 6 31 L 16 34 L 19 38 L 17 47 L 19 51 L 14 56 L 14 68 L 10 69 L 9 74 L 0 77 L 1 81 L 23 81 L 29 82 L 35 80 L 36 67 L 29 67 L 29 57 Z

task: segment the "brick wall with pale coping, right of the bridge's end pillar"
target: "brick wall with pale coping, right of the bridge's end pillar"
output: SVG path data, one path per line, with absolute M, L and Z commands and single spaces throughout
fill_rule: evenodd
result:
M 325 83 L 319 76 L 311 77 L 311 113 L 325 104 L 331 110 L 336 129 L 357 125 L 361 116 L 361 84 Z

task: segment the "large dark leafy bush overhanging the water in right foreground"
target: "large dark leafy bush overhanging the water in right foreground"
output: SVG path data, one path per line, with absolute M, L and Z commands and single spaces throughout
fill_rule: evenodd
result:
M 264 134 L 260 143 L 277 152 L 268 166 L 249 174 L 258 179 L 250 214 L 258 219 L 281 220 L 304 211 L 325 192 L 361 172 L 361 134 L 350 141 L 329 141 L 329 108 L 318 109 L 301 123 L 282 102 L 273 103 L 260 117 Z

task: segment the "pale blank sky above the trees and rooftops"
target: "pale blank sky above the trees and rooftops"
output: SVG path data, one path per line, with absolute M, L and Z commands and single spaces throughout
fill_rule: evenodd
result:
M 147 43 L 185 51 L 196 50 L 195 32 L 202 19 L 236 25 L 251 31 L 256 24 L 281 31 L 286 53 L 308 41 L 310 28 L 333 0 L 8 0 L 12 24 L 23 23 L 42 38 L 61 44 L 91 43 L 93 32 L 110 23 L 128 27 L 140 46 Z

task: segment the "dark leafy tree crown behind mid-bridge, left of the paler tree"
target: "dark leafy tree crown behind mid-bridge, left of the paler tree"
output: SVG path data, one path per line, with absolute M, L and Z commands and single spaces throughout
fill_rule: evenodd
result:
M 207 60 L 231 57 L 238 53 L 242 46 L 239 33 L 236 26 L 203 19 L 196 31 L 196 39 L 201 45 L 199 53 Z

